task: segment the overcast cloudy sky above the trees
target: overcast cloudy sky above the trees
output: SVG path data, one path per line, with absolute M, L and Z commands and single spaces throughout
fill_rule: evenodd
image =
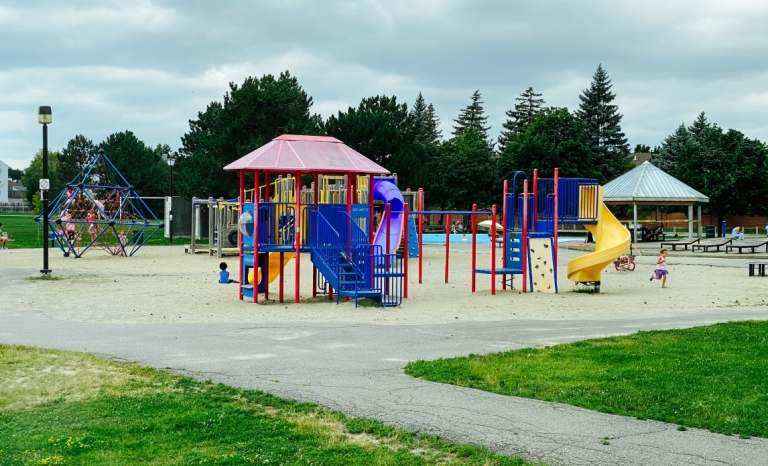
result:
M 0 160 L 78 134 L 177 149 L 230 82 L 289 70 L 327 118 L 365 97 L 433 103 L 443 136 L 480 90 L 495 138 L 529 86 L 579 105 L 598 64 L 631 147 L 702 111 L 768 141 L 764 0 L 0 0 Z

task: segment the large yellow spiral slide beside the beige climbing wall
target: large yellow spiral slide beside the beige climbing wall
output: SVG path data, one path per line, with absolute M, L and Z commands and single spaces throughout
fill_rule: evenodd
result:
M 582 193 L 585 194 L 585 193 Z M 599 282 L 606 265 L 629 250 L 629 230 L 613 216 L 603 204 L 603 187 L 597 191 L 597 223 L 585 225 L 595 238 L 595 252 L 577 257 L 568 263 L 568 280 L 575 282 Z M 580 196 L 582 203 L 589 203 L 590 196 Z M 594 205 L 594 196 L 592 196 Z

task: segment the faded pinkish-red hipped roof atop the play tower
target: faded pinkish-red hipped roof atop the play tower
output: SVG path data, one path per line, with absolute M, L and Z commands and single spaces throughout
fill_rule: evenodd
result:
M 277 173 L 370 173 L 389 170 L 336 138 L 283 134 L 246 154 L 224 170 L 259 170 Z

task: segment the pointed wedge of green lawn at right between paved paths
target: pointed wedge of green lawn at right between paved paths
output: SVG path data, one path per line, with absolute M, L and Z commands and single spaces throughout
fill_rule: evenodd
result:
M 503 395 L 768 437 L 768 322 L 416 361 L 405 372 Z

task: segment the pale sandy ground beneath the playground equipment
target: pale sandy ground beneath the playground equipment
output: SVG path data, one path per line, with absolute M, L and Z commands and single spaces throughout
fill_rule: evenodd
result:
M 402 306 L 354 307 L 312 298 L 311 262 L 301 258 L 301 299 L 293 303 L 294 262 L 285 270 L 285 303 L 239 301 L 237 285 L 220 285 L 221 259 L 185 254 L 183 246 L 144 247 L 133 257 L 101 251 L 83 258 L 64 258 L 51 250 L 50 265 L 58 280 L 39 277 L 41 250 L 0 251 L 0 303 L 15 311 L 41 311 L 63 320 L 95 322 L 276 322 L 363 321 L 383 324 L 439 323 L 514 318 L 652 318 L 695 313 L 707 308 L 764 306 L 763 277 L 747 277 L 747 259 L 669 258 L 668 288 L 649 282 L 655 256 L 638 257 L 634 272 L 607 268 L 600 294 L 580 293 L 566 277 L 566 263 L 584 252 L 561 249 L 559 294 L 490 293 L 490 276 L 477 275 L 471 293 L 470 250 L 456 245 L 450 255 L 450 281 L 444 283 L 445 251 L 427 246 L 424 280 L 418 284 L 417 261 L 410 261 L 409 298 Z M 650 253 L 649 253 L 650 254 Z M 237 257 L 226 257 L 233 276 Z M 478 266 L 490 267 L 490 252 L 478 253 Z M 519 280 L 516 280 L 519 285 Z M 519 287 L 519 286 L 518 286 Z M 277 298 L 277 282 L 270 287 Z

